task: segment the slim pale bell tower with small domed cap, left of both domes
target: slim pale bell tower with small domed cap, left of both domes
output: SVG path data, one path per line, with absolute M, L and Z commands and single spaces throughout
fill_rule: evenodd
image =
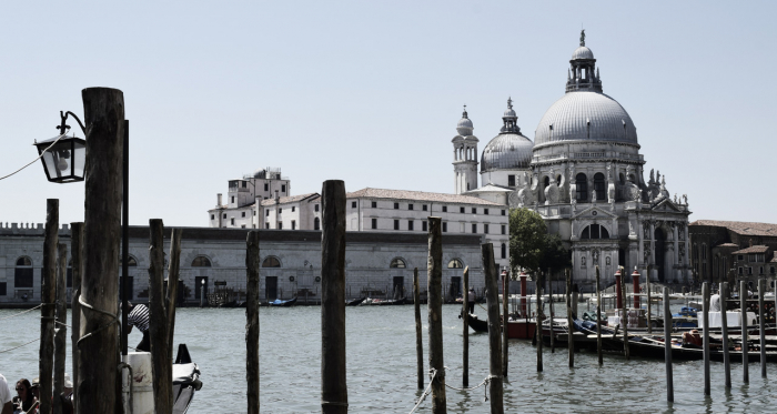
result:
M 451 141 L 453 143 L 454 191 L 456 194 L 477 188 L 478 140 L 472 134 L 473 130 L 474 127 L 467 118 L 466 105 L 464 105 L 464 113 L 456 125 L 458 134 Z

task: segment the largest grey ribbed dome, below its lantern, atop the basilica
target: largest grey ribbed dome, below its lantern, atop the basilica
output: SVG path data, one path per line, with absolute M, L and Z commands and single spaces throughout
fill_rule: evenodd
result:
M 617 141 L 637 144 L 637 129 L 620 104 L 601 92 L 567 92 L 545 111 L 535 145 L 559 141 Z

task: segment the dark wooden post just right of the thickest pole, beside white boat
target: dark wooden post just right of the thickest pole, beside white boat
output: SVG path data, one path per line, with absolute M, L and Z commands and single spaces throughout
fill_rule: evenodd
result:
M 149 339 L 153 373 L 154 410 L 173 410 L 172 361 L 168 361 L 168 314 L 164 304 L 164 225 L 160 219 L 149 220 Z M 169 362 L 169 363 L 168 363 Z

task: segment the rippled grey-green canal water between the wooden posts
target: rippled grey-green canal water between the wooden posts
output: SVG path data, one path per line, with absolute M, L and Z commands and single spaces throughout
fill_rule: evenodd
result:
M 462 385 L 461 306 L 443 306 L 445 365 L 448 385 Z M 424 345 L 426 336 L 426 307 Z M 0 352 L 34 340 L 40 313 L 13 319 L 18 310 L 0 310 Z M 477 309 L 481 317 L 485 316 Z M 175 343 L 189 345 L 202 372 L 190 413 L 245 412 L 245 310 L 179 309 Z M 316 306 L 262 307 L 260 311 L 260 364 L 262 413 L 320 413 L 321 312 Z M 421 392 L 416 390 L 415 322 L 413 306 L 360 306 L 346 309 L 347 387 L 351 413 L 408 413 Z M 130 344 L 140 342 L 132 332 Z M 68 351 L 70 355 L 70 351 Z M 427 356 L 426 351 L 424 352 Z M 724 388 L 723 364 L 712 363 L 712 397 L 704 396 L 700 361 L 674 365 L 675 403 L 666 402 L 664 362 L 605 355 L 575 355 L 569 370 L 566 349 L 552 354 L 545 347 L 545 371 L 536 372 L 536 350 L 531 342 L 509 343 L 509 378 L 505 383 L 505 412 L 509 413 L 740 413 L 774 412 L 777 370 L 768 366 L 768 380 L 751 363 L 750 383 L 741 382 L 741 364 L 733 364 L 733 388 Z M 68 362 L 68 372 L 70 372 Z M 427 365 L 426 365 L 427 367 Z M 38 376 L 38 343 L 0 353 L 0 373 L 9 382 Z M 470 384 L 488 375 L 487 334 L 470 335 Z M 427 381 L 426 381 L 427 382 Z M 446 391 L 448 412 L 487 413 L 483 387 Z M 427 398 L 418 413 L 431 412 Z

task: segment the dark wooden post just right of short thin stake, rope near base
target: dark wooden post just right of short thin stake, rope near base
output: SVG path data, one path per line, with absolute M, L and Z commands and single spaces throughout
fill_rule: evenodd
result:
M 441 219 L 428 218 L 428 259 L 426 261 L 426 294 L 428 309 L 428 367 L 432 378 L 432 413 L 447 413 L 445 397 L 445 363 L 443 360 L 443 235 Z

